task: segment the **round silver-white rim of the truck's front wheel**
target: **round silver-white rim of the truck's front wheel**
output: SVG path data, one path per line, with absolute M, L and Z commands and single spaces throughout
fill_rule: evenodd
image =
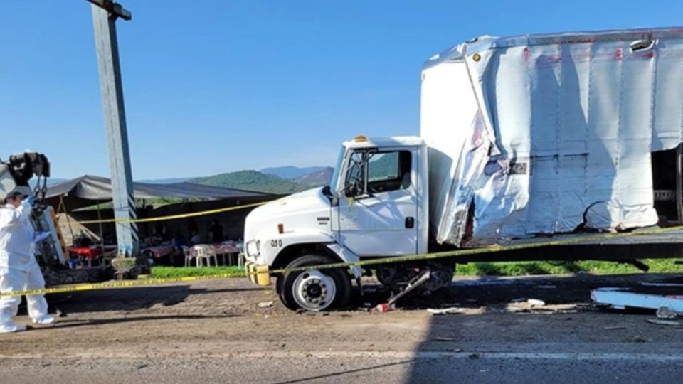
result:
M 294 300 L 307 311 L 322 311 L 332 304 L 337 294 L 334 279 L 319 270 L 309 270 L 297 276 L 292 285 Z

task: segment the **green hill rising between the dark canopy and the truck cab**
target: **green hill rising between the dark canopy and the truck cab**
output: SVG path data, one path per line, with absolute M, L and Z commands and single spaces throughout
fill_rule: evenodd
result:
M 301 183 L 295 183 L 294 181 L 285 180 L 284 178 L 279 178 L 277 176 L 262 174 L 258 171 L 228 172 L 227 174 L 193 178 L 190 182 L 207 186 L 275 193 L 277 195 L 300 192 L 310 188 Z

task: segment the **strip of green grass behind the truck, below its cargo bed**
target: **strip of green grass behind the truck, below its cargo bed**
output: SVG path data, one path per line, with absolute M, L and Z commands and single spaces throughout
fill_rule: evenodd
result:
M 683 266 L 675 265 L 673 259 L 642 259 L 650 266 L 650 272 L 683 272 Z M 461 276 L 528 276 L 531 274 L 625 274 L 641 272 L 629 264 L 603 261 L 578 262 L 471 262 L 457 265 L 456 274 Z

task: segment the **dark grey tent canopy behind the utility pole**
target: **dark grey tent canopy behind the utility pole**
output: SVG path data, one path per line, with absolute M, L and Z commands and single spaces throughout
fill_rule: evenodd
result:
M 276 195 L 271 193 L 243 191 L 241 189 L 204 186 L 195 183 L 133 183 L 134 198 L 206 198 L 268 200 Z M 48 186 L 47 203 L 57 206 L 60 198 L 68 210 L 90 206 L 112 200 L 112 185 L 109 178 L 85 175 Z

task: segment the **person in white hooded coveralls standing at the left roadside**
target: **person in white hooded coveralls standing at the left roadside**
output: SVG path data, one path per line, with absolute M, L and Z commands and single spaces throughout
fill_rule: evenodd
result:
M 45 279 L 33 255 L 36 232 L 31 225 L 33 196 L 20 192 L 9 193 L 0 206 L 0 292 L 42 289 Z M 48 303 L 43 294 L 26 297 L 28 316 L 33 324 L 52 324 Z M 26 326 L 14 323 L 21 297 L 0 297 L 0 334 L 24 331 Z

